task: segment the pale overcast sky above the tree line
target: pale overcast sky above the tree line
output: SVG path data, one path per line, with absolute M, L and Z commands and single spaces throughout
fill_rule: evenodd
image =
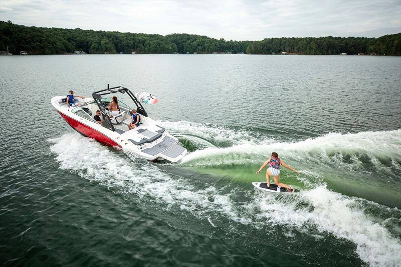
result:
M 401 32 L 401 1 L 0 1 L 0 20 L 38 27 L 226 40 Z

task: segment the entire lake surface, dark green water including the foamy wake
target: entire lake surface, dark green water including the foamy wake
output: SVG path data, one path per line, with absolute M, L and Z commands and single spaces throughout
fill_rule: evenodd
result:
M 52 96 L 110 86 L 187 147 L 149 163 L 75 132 Z M 396 266 L 401 58 L 0 57 L 6 266 Z M 294 194 L 256 191 L 271 152 Z

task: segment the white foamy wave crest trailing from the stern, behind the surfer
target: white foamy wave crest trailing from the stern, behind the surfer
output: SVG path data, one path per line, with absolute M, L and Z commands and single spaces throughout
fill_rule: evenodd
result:
M 270 143 L 269 143 L 270 141 Z M 189 153 L 182 159 L 182 163 L 200 161 L 207 164 L 229 164 L 235 156 L 243 157 L 245 162 L 260 163 L 260 158 L 267 158 L 271 152 L 279 153 L 283 158 L 294 160 L 309 160 L 314 163 L 341 163 L 344 155 L 350 155 L 353 165 L 362 164 L 357 157 L 367 154 L 373 164 L 380 165 L 377 158 L 390 158 L 395 168 L 399 168 L 401 161 L 401 129 L 387 132 L 361 132 L 356 134 L 329 133 L 317 138 L 298 142 L 268 142 L 264 144 L 243 143 L 228 148 L 206 148 Z M 213 158 L 213 160 L 211 159 Z M 219 158 L 219 160 L 216 160 Z

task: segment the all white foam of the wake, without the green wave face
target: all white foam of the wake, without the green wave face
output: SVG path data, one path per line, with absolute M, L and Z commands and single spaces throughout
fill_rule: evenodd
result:
M 169 125 L 174 129 L 168 128 Z M 250 133 L 236 133 L 223 127 L 208 128 L 186 122 L 164 122 L 162 126 L 170 132 L 200 135 L 220 144 L 232 143 L 230 147 L 196 150 L 184 157 L 178 168 L 196 164 L 210 167 L 233 164 L 237 162 L 236 156 L 242 164 L 247 161 L 259 164 L 255 157 L 267 157 L 274 150 L 298 163 L 305 158 L 308 164 L 334 166 L 341 162 L 348 164 L 351 170 L 357 164 L 365 164 L 365 156 L 358 155 L 367 155 L 366 160 L 376 164 L 375 168 L 387 168 L 394 179 L 399 179 L 395 174 L 401 162 L 397 154 L 401 147 L 401 130 L 327 134 L 304 141 L 280 142 L 270 137 L 259 140 Z M 219 184 L 199 181 L 197 177 L 185 174 L 172 174 L 163 169 L 163 165 L 150 164 L 123 151 L 116 152 L 77 133 L 64 134 L 50 142 L 60 169 L 106 186 L 145 208 L 161 209 L 173 217 L 182 216 L 183 221 L 189 219 L 189 213 L 214 229 L 227 231 L 241 225 L 254 229 L 280 225 L 316 238 L 332 234 L 355 243 L 356 253 L 372 266 L 395 266 L 401 261 L 401 211 L 329 190 L 318 170 L 304 170 L 303 177 L 319 180 L 315 183 L 306 179 L 305 182 L 313 184 L 309 190 L 273 195 L 255 191 L 251 184 L 244 188 L 233 181 Z

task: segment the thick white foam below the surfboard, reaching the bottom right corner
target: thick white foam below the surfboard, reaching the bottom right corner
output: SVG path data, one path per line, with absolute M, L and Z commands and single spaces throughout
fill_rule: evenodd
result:
M 354 242 L 360 258 L 371 266 L 399 266 L 400 240 L 392 236 L 382 223 L 373 222 L 364 214 L 356 198 L 332 192 L 325 186 L 299 193 L 300 199 L 309 203 L 305 208 L 296 206 L 300 199 L 285 201 L 283 206 L 282 201 L 278 202 L 274 197 L 271 194 L 256 194 L 254 204 L 261 210 L 259 219 L 296 228 L 315 226 L 320 232 L 329 232 Z M 393 210 L 399 216 L 399 210 Z

